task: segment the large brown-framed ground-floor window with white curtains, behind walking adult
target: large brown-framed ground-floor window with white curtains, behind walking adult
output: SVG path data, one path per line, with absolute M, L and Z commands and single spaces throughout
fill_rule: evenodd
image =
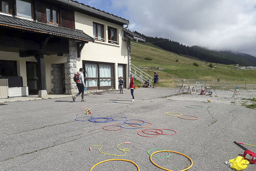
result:
M 114 87 L 113 64 L 83 62 L 85 85 L 90 90 Z

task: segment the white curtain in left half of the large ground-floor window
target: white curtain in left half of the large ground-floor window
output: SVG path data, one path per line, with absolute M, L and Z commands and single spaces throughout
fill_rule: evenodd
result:
M 96 79 L 86 79 L 85 85 L 87 87 L 96 87 L 98 86 L 98 65 L 92 63 L 84 64 L 85 68 L 85 77 L 96 78 Z

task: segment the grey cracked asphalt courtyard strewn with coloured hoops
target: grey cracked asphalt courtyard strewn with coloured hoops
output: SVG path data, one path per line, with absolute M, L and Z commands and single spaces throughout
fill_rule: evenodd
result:
M 190 157 L 193 165 L 190 171 L 231 171 L 225 161 L 236 158 L 243 150 L 233 141 L 256 145 L 256 111 L 233 104 L 218 101 L 170 100 L 174 95 L 170 88 L 139 88 L 134 91 L 136 101 L 131 102 L 129 90 L 124 94 L 118 91 L 81 97 L 76 102 L 71 97 L 45 100 L 18 101 L 0 103 L 0 170 L 1 171 L 46 171 L 46 170 L 84 170 L 108 159 L 133 161 L 141 171 L 161 171 L 154 166 L 148 155 L 150 149 L 177 151 Z M 179 95 L 177 95 L 179 96 Z M 188 95 L 193 96 L 193 95 Z M 167 98 L 166 98 L 167 97 Z M 206 101 L 206 100 L 205 100 Z M 119 103 L 113 103 L 119 102 Z M 197 105 L 203 108 L 187 108 Z M 128 124 L 118 131 L 103 130 L 103 126 L 120 125 L 123 121 L 93 123 L 75 121 L 85 116 L 84 108 L 90 108 L 92 117 L 126 117 L 152 124 L 153 129 L 163 129 L 163 135 L 147 131 L 158 136 L 148 138 L 139 136 L 138 131 L 147 128 L 135 128 Z M 187 119 L 167 116 L 166 112 L 177 112 Z M 173 114 L 173 113 L 169 113 Z M 179 114 L 174 114 L 179 115 Z M 89 117 L 88 117 L 89 118 Z M 84 119 L 88 119 L 84 118 Z M 83 118 L 81 118 L 83 119 Z M 110 119 L 111 120 L 111 119 Z M 123 120 L 123 118 L 115 118 Z M 106 121 L 98 119 L 96 121 Z M 142 126 L 150 126 L 144 123 Z M 117 126 L 106 129 L 119 129 Z M 171 129 L 164 130 L 164 129 Z M 154 131 L 154 130 L 153 130 Z M 161 131 L 158 131 L 161 133 Z M 144 136 L 155 136 L 140 132 Z M 128 148 L 125 156 L 111 156 L 103 153 L 123 155 L 118 150 Z M 256 152 L 255 146 L 246 146 Z M 152 150 L 153 153 L 158 150 Z M 156 153 L 157 157 L 166 157 L 166 152 Z M 182 170 L 191 162 L 177 153 L 167 158 L 152 158 L 161 167 L 170 170 Z M 101 163 L 93 171 L 136 171 L 132 163 L 126 161 L 108 161 Z M 255 171 L 256 165 L 249 164 L 246 171 Z

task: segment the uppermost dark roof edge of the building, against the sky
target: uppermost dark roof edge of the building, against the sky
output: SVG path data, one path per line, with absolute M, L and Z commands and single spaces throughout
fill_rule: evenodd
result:
M 117 15 L 107 13 L 105 11 L 99 10 L 94 7 L 90 7 L 89 5 L 85 5 L 83 3 L 79 3 L 75 0 L 56 0 L 62 3 L 66 3 L 68 5 L 72 5 L 75 8 L 82 9 L 83 11 L 86 11 L 87 13 L 90 13 L 92 15 L 96 15 L 96 17 L 103 17 L 106 19 L 113 20 L 120 24 L 129 24 L 129 20 L 126 20 L 125 18 L 118 17 Z

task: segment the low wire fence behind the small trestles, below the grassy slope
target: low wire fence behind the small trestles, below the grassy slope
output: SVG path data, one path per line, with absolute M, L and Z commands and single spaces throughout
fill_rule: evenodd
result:
M 161 78 L 160 85 L 164 87 L 174 87 L 175 92 L 182 92 L 182 85 L 195 86 L 196 94 L 200 94 L 202 88 L 210 87 L 212 96 L 220 98 L 232 98 L 235 90 L 238 90 L 241 99 L 253 99 L 256 98 L 256 80 L 197 80 L 197 79 L 184 79 L 177 77 Z M 191 90 L 189 89 L 189 93 Z M 235 98 L 238 98 L 237 93 Z

